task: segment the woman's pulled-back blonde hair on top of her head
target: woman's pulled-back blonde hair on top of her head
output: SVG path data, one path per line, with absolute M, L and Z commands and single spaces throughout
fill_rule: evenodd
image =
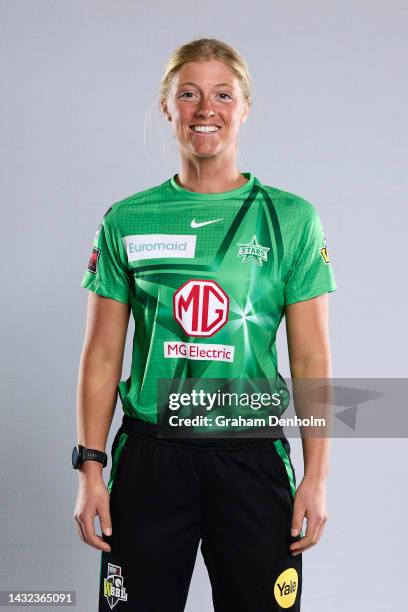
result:
M 233 47 L 216 38 L 198 38 L 173 51 L 160 81 L 159 102 L 168 97 L 172 79 L 183 64 L 211 59 L 224 62 L 232 70 L 244 99 L 251 106 L 252 83 L 246 61 Z

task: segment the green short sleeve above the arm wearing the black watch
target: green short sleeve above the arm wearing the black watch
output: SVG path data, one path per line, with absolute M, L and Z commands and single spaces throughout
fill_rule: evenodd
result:
M 112 207 L 105 213 L 93 240 L 88 267 L 81 287 L 99 295 L 130 302 L 127 256 L 120 232 L 115 228 Z

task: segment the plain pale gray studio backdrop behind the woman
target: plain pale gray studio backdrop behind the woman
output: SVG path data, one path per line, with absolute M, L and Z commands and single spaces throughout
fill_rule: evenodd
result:
M 214 36 L 246 57 L 255 108 L 240 169 L 302 195 L 321 215 L 338 284 L 333 374 L 405 377 L 408 8 L 404 0 L 0 5 L 0 588 L 74 589 L 77 609 L 90 612 L 100 553 L 77 535 L 70 467 L 88 293 L 79 284 L 106 209 L 177 171 L 170 126 L 156 110 L 168 54 Z M 279 354 L 287 376 L 283 326 Z M 120 418 L 118 404 L 109 448 Z M 406 450 L 402 439 L 334 440 L 329 522 L 304 555 L 304 612 L 403 610 Z M 200 554 L 186 609 L 213 609 Z

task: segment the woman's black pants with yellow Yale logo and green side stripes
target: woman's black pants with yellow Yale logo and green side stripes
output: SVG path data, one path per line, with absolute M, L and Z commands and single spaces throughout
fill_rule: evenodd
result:
M 99 612 L 182 612 L 200 540 L 215 612 L 300 610 L 286 438 L 164 439 L 124 415 L 111 452 Z

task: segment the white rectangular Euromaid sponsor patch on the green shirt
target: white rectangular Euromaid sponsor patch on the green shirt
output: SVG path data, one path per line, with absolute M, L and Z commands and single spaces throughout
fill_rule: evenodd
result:
M 194 257 L 197 236 L 191 234 L 135 234 L 125 236 L 128 261 L 163 257 Z

